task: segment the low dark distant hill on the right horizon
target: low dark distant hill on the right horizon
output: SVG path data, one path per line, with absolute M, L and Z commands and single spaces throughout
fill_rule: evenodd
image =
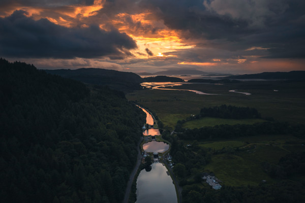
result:
M 259 73 L 259 74 L 228 76 L 225 78 L 227 78 L 227 79 L 265 79 L 265 80 L 304 80 L 305 71 L 264 72 L 264 73 Z

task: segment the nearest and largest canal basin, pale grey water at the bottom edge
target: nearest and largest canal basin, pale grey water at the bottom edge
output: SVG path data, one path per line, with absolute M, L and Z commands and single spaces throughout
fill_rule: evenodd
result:
M 142 170 L 137 179 L 136 203 L 176 203 L 175 186 L 162 163 L 151 164 L 151 171 Z

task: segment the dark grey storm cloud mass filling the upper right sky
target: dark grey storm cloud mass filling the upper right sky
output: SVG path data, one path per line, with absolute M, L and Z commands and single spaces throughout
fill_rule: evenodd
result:
M 303 0 L 143 0 L 141 6 L 197 46 L 231 51 L 265 47 L 264 57 L 305 57 Z

